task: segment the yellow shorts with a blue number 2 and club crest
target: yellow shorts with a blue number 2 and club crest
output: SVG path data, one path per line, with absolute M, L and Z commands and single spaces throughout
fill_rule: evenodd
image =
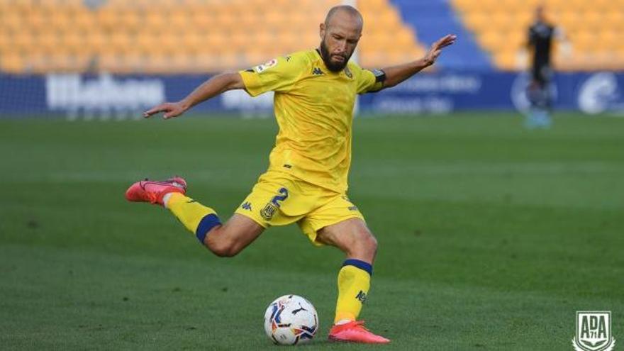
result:
M 236 213 L 264 228 L 296 222 L 314 245 L 323 245 L 316 240 L 317 230 L 349 218 L 364 220 L 346 194 L 280 172 L 262 174 Z

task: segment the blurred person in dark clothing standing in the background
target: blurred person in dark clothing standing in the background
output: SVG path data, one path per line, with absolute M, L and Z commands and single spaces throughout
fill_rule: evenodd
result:
M 528 49 L 530 58 L 530 82 L 527 96 L 530 110 L 525 121 L 528 128 L 549 128 L 552 124 L 552 87 L 553 75 L 552 47 L 553 39 L 564 40 L 563 32 L 547 21 L 544 6 L 535 9 L 535 22 L 528 30 Z

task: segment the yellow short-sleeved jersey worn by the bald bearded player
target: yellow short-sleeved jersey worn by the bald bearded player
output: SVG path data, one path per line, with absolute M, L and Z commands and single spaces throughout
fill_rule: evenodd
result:
M 331 72 L 318 50 L 306 50 L 240 71 L 240 75 L 251 96 L 274 91 L 279 133 L 269 171 L 345 193 L 355 95 L 380 90 L 383 82 L 376 74 L 354 62 Z

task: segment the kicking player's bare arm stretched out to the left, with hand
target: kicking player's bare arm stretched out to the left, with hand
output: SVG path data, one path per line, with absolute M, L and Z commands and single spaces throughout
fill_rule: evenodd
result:
M 173 118 L 180 116 L 189 108 L 199 104 L 202 101 L 217 96 L 228 90 L 243 89 L 243 78 L 238 72 L 226 72 L 217 74 L 215 77 L 208 79 L 206 82 L 197 87 L 191 94 L 177 102 L 165 102 L 143 113 L 143 117 L 148 118 L 156 113 L 165 112 L 163 118 Z

